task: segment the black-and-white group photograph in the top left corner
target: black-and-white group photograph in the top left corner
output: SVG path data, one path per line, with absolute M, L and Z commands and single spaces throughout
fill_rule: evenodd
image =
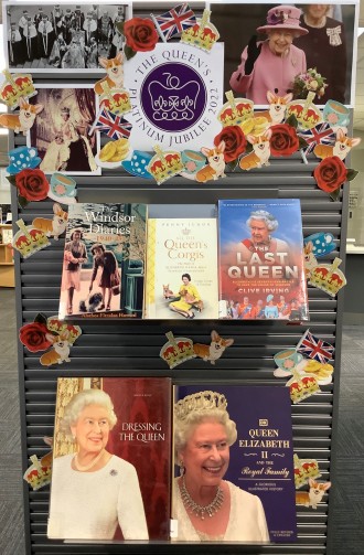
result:
M 117 23 L 131 18 L 127 3 L 3 2 L 4 52 L 11 71 L 63 73 L 104 70 L 125 44 Z

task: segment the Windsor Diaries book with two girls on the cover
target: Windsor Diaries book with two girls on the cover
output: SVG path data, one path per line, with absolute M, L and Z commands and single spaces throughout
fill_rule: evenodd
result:
M 71 204 L 60 318 L 142 318 L 146 204 Z

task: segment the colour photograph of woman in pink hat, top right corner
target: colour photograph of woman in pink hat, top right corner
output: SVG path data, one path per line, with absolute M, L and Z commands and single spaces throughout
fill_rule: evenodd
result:
M 311 75 L 315 105 L 353 106 L 357 3 L 212 1 L 208 8 L 225 43 L 224 90 L 263 107 L 268 90 L 299 98 L 314 70 L 324 78 L 322 85 Z

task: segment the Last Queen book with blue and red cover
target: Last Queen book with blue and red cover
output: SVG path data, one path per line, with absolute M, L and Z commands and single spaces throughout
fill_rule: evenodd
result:
M 220 318 L 309 320 L 298 199 L 218 201 Z

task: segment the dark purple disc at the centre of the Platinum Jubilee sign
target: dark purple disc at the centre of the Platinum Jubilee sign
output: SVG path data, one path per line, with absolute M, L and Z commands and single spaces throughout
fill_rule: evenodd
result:
M 181 63 L 159 65 L 140 87 L 140 105 L 148 120 L 170 132 L 192 127 L 206 107 L 205 84 L 192 67 Z

